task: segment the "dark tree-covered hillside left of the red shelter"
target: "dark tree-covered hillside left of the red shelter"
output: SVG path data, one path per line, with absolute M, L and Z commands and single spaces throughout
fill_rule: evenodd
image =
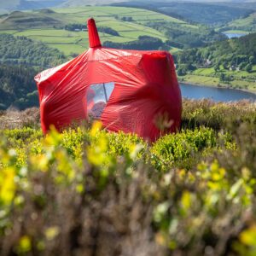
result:
M 34 76 L 65 61 L 59 50 L 43 43 L 0 34 L 0 110 L 38 106 Z

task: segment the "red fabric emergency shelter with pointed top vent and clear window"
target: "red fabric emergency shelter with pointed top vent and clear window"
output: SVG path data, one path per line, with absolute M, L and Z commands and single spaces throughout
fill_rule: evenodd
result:
M 182 98 L 172 55 L 104 48 L 93 19 L 88 32 L 90 49 L 35 77 L 44 133 L 50 125 L 61 130 L 90 118 L 100 119 L 108 131 L 136 133 L 152 142 L 177 131 Z

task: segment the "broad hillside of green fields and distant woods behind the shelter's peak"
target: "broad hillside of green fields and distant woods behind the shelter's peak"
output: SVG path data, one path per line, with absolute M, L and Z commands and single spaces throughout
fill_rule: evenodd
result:
M 83 26 L 94 17 L 97 26 L 108 26 L 119 36 L 100 32 L 102 43 L 127 43 L 139 36 L 168 39 L 172 52 L 182 48 L 203 46 L 224 35 L 205 26 L 191 25 L 169 15 L 151 10 L 123 7 L 84 7 L 69 9 L 41 9 L 29 12 L 13 12 L 0 20 L 0 33 L 26 36 L 59 49 L 66 55 L 78 55 L 88 47 L 88 35 L 84 31 L 67 31 L 68 25 Z M 1 17 L 0 17 L 1 18 Z M 171 46 L 171 47 L 170 47 Z

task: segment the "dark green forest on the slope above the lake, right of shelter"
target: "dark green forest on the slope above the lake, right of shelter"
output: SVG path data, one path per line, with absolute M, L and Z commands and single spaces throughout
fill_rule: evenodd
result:
M 241 38 L 232 38 L 210 44 L 205 48 L 183 50 L 175 55 L 177 73 L 187 73 L 198 67 L 214 67 L 218 71 L 220 66 L 225 69 L 238 67 L 247 72 L 252 71 L 256 64 L 256 33 Z

